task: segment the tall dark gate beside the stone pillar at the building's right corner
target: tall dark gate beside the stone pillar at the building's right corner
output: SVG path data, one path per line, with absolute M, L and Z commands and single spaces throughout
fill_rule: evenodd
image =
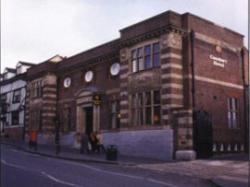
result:
M 213 127 L 211 115 L 206 111 L 195 112 L 194 146 L 198 158 L 213 155 Z

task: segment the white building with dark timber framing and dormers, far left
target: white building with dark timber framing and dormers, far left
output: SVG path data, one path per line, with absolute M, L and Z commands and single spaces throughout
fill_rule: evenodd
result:
M 6 68 L 0 82 L 0 130 L 1 135 L 21 139 L 24 135 L 24 110 L 26 94 L 26 72 L 34 66 L 18 62 L 16 69 Z

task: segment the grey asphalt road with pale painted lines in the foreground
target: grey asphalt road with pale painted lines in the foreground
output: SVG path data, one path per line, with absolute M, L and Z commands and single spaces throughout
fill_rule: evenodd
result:
M 1 145 L 1 187 L 211 187 L 176 174 L 43 157 Z

